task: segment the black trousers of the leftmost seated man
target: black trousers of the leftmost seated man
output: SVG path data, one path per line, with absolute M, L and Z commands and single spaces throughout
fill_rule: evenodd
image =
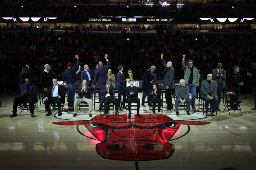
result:
M 17 113 L 18 104 L 25 103 L 25 102 L 28 102 L 28 104 L 29 104 L 29 111 L 30 111 L 30 113 L 34 113 L 34 110 L 35 110 L 34 104 L 36 103 L 36 99 L 34 97 L 32 97 L 32 96 L 28 96 L 28 97 L 19 96 L 19 97 L 15 97 L 14 101 L 13 101 L 12 112 L 13 113 Z

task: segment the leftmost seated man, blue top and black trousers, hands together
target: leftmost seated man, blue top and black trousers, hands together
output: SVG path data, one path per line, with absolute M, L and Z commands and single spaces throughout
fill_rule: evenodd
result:
M 25 84 L 21 85 L 21 96 L 14 98 L 12 114 L 10 118 L 17 116 L 18 104 L 25 103 L 25 102 L 28 102 L 31 117 L 34 118 L 35 117 L 34 104 L 37 102 L 37 90 L 36 90 L 36 85 L 31 84 L 29 79 L 25 79 Z

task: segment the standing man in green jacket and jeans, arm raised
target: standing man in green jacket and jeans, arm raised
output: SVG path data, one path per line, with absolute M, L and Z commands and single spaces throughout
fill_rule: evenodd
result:
M 199 74 L 197 72 L 196 67 L 193 66 L 193 61 L 191 59 L 189 59 L 185 65 L 185 56 L 185 54 L 182 56 L 181 66 L 182 69 L 184 70 L 185 85 L 188 87 L 188 91 L 191 91 L 192 109 L 196 110 L 196 87 L 199 85 Z

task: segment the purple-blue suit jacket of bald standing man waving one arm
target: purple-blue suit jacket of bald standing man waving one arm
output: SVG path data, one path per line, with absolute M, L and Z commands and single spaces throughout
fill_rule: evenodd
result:
M 96 85 L 97 88 L 100 89 L 101 85 L 106 84 L 106 81 L 108 79 L 107 77 L 107 70 L 110 68 L 110 62 L 107 60 L 107 66 L 100 66 L 95 69 L 95 76 L 93 84 Z

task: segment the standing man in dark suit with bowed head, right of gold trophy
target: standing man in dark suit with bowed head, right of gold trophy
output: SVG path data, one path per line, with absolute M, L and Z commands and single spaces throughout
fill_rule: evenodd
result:
M 141 102 L 141 107 L 142 111 L 146 111 L 145 109 L 145 99 L 146 96 L 148 96 L 148 108 L 149 108 L 149 96 L 151 92 L 151 85 L 153 84 L 154 81 L 154 76 L 153 72 L 156 70 L 155 66 L 151 66 L 147 71 L 145 72 L 144 76 L 142 77 L 142 102 Z

